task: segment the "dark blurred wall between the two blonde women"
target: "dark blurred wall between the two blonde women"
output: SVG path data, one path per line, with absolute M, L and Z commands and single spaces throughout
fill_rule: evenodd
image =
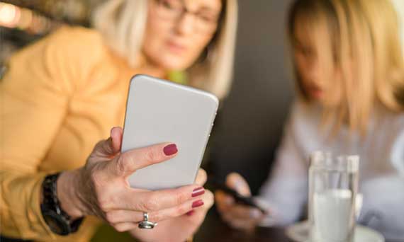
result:
M 284 35 L 290 2 L 239 1 L 234 85 L 211 139 L 215 175 L 237 171 L 254 192 L 269 172 L 293 93 Z

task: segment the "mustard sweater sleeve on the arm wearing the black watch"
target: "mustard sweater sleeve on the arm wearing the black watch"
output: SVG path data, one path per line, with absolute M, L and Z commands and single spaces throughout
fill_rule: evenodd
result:
M 75 30 L 77 32 L 77 30 Z M 84 31 L 84 30 L 79 30 Z M 0 80 L 1 234 L 54 238 L 40 212 L 45 158 L 67 114 L 75 83 L 85 75 L 82 46 L 62 28 L 9 60 Z

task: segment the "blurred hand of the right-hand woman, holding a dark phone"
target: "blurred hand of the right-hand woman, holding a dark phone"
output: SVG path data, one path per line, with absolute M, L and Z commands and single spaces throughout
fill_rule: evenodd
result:
M 251 196 L 249 185 L 238 173 L 230 173 L 226 185 L 236 190 L 240 195 Z M 216 207 L 224 221 L 235 229 L 250 231 L 264 219 L 264 214 L 254 207 L 235 203 L 232 196 L 225 192 L 215 192 Z

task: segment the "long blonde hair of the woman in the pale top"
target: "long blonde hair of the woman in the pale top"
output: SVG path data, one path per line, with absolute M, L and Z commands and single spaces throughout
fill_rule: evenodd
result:
M 327 42 L 316 44 L 322 45 L 323 78 L 342 88 L 342 103 L 324 112 L 325 122 L 334 122 L 335 131 L 347 122 L 352 131 L 366 134 L 376 103 L 393 112 L 404 110 L 404 59 L 390 0 L 297 0 L 289 11 L 291 40 L 297 21 L 314 28 L 325 25 L 329 33 Z M 337 80 L 331 73 L 335 68 L 342 76 Z M 295 72 L 299 93 L 309 100 Z

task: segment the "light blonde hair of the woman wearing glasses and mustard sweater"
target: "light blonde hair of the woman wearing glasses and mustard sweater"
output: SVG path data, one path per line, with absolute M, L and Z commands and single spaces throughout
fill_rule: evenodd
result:
M 99 30 L 108 45 L 131 67 L 143 45 L 147 21 L 148 0 L 109 0 L 93 14 L 94 28 Z M 223 16 L 218 32 L 208 45 L 208 57 L 186 70 L 191 86 L 224 98 L 232 81 L 232 67 L 237 30 L 237 1 L 223 0 Z

